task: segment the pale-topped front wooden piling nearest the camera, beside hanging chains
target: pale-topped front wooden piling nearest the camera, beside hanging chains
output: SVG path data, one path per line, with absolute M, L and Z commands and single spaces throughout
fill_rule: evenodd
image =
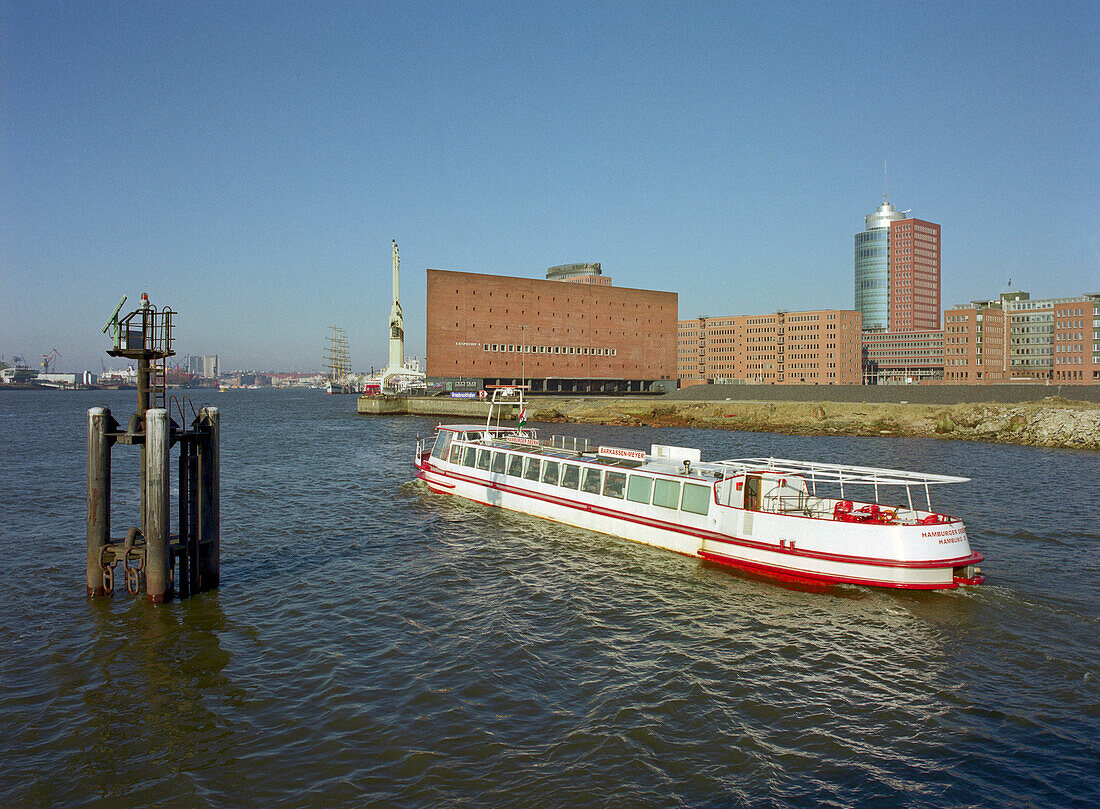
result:
M 168 412 L 151 407 L 145 412 L 145 598 L 154 604 L 172 599 L 168 576 Z

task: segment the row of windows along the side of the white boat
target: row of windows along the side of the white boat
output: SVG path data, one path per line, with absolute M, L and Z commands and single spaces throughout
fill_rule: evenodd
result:
M 581 467 L 576 463 L 548 458 L 502 452 L 483 447 L 451 447 L 451 463 L 471 469 L 482 469 L 513 478 L 549 483 L 564 489 L 579 489 L 605 498 L 626 498 L 635 503 L 680 509 L 694 514 L 706 514 L 711 505 L 711 488 L 695 483 L 681 484 L 678 480 L 627 474 L 613 469 Z

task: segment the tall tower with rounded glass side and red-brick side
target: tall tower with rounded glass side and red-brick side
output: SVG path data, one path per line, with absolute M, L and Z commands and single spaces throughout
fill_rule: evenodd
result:
M 883 197 L 856 233 L 856 309 L 865 331 L 941 326 L 939 226 L 906 214 Z

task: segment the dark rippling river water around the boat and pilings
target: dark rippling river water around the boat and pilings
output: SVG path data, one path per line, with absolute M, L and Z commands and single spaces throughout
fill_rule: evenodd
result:
M 162 606 L 84 595 L 86 412 L 135 394 L 0 393 L 0 807 L 1100 805 L 1098 455 L 552 427 L 972 479 L 985 586 L 815 589 L 431 494 L 429 419 L 195 393 L 222 583 Z

